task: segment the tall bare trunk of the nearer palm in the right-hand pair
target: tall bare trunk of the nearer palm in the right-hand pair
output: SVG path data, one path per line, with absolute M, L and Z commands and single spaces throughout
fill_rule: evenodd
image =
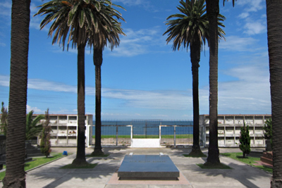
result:
M 209 156 L 208 163 L 220 163 L 217 137 L 218 25 L 219 0 L 207 0 L 209 18 Z

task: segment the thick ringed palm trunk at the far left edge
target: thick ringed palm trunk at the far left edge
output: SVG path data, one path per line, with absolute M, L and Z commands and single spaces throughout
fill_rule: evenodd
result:
M 4 187 L 25 187 L 25 123 L 30 0 L 12 1 L 11 75 Z

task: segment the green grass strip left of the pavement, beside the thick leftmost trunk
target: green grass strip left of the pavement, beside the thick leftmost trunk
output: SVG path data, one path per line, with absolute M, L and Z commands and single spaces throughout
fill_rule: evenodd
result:
M 51 153 L 51 157 L 40 157 L 40 158 L 32 158 L 32 161 L 25 163 L 25 171 L 30 170 L 32 168 L 35 168 L 39 165 L 43 165 L 45 163 L 48 163 L 50 161 L 54 161 L 57 158 L 60 158 L 62 153 Z M 6 171 L 0 173 L 0 180 L 3 180 L 6 175 Z

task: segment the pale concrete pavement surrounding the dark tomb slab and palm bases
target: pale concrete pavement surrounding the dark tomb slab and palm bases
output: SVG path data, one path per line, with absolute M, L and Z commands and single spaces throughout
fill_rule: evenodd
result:
M 196 164 L 204 163 L 206 158 L 186 158 L 183 154 L 190 153 L 191 149 L 132 149 L 132 148 L 104 148 L 104 153 L 110 155 L 106 158 L 87 158 L 89 163 L 98 163 L 93 169 L 60 169 L 63 165 L 72 163 L 76 148 L 52 148 L 53 152 L 68 151 L 70 156 L 59 159 L 35 170 L 27 172 L 27 187 L 106 187 L 106 188 L 155 188 L 155 187 L 270 187 L 270 173 L 245 165 L 231 158 L 221 156 L 221 163 L 229 165 L 232 169 L 201 169 Z M 86 149 L 90 154 L 93 149 Z M 207 149 L 202 149 L 207 154 Z M 156 154 L 160 152 L 170 156 L 173 163 L 183 175 L 183 184 L 171 181 L 136 181 L 115 179 L 121 161 L 126 154 Z M 240 152 L 239 149 L 221 149 L 223 152 Z M 2 185 L 1 185 L 2 186 Z

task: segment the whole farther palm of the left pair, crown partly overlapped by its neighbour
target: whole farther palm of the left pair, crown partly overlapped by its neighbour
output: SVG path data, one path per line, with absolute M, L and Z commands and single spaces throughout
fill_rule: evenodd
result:
M 121 28 L 121 23 L 118 20 L 123 19 L 121 13 L 116 11 L 113 6 L 123 8 L 116 4 L 102 4 L 99 13 L 97 13 L 97 25 L 92 28 L 90 35 L 89 46 L 93 46 L 93 62 L 95 65 L 95 147 L 91 153 L 92 156 L 103 155 L 101 146 L 101 66 L 103 62 L 104 46 L 109 45 L 111 50 L 114 46 L 118 46 L 120 39 L 119 35 L 125 35 Z M 123 8 L 123 10 L 125 10 Z M 93 25 L 92 25 L 93 26 Z

